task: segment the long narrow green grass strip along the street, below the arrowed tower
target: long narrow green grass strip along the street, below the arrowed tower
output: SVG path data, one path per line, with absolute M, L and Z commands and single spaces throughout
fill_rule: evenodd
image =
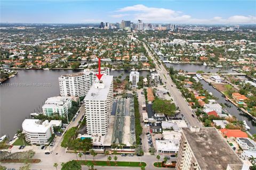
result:
M 82 165 L 87 165 L 88 163 L 93 164 L 93 161 L 92 160 L 87 160 L 86 162 L 85 160 L 81 161 Z M 98 166 L 131 166 L 131 167 L 147 166 L 145 162 L 141 162 L 141 165 L 140 165 L 140 162 L 116 162 L 115 163 L 114 161 L 111 161 L 110 163 L 107 161 L 95 161 L 94 165 L 95 166 L 97 165 Z

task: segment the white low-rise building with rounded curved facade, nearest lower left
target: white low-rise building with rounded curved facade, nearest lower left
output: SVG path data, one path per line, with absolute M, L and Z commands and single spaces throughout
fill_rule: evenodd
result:
M 25 119 L 22 123 L 22 129 L 25 133 L 26 141 L 30 144 L 49 144 L 49 139 L 54 133 L 53 126 L 56 123 L 47 120 L 43 122 L 38 119 Z

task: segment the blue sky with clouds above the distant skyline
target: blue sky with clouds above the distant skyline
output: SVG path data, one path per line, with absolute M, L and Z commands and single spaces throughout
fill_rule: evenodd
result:
M 255 1 L 2 1 L 1 23 L 256 24 Z

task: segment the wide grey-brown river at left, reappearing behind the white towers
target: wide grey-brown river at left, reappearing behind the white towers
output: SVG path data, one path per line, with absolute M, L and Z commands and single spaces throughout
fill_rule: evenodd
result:
M 3 82 L 0 86 L 0 137 L 4 134 L 12 139 L 25 118 L 33 112 L 42 112 L 44 101 L 53 96 L 59 96 L 58 78 L 62 74 L 81 72 L 81 70 L 18 70 L 18 74 Z M 148 71 L 140 71 L 146 77 Z M 110 75 L 122 79 L 130 71 L 110 71 Z

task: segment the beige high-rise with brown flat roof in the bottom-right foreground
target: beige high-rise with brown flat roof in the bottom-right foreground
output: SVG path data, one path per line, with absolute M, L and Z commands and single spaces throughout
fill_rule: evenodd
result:
M 182 128 L 176 170 L 249 169 L 215 128 Z

